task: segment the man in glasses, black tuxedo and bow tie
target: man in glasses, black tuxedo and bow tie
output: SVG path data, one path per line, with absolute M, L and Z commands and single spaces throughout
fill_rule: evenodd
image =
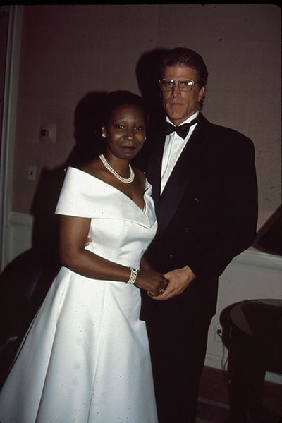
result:
M 207 76 L 195 51 L 167 52 L 159 81 L 166 128 L 149 144 L 159 228 L 147 257 L 168 286 L 158 297 L 142 293 L 140 318 L 147 322 L 159 423 L 195 422 L 218 278 L 252 245 L 257 226 L 252 141 L 199 112 Z M 178 135 L 185 123 L 187 135 Z

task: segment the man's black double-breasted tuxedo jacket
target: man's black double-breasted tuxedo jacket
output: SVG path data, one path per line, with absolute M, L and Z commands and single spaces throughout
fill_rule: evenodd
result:
M 252 245 L 257 226 L 257 178 L 252 141 L 209 123 L 202 114 L 160 196 L 165 137 L 149 144 L 158 231 L 147 250 L 154 269 L 188 265 L 196 278 L 166 301 L 142 293 L 140 318 L 183 319 L 216 312 L 217 281 L 233 257 Z

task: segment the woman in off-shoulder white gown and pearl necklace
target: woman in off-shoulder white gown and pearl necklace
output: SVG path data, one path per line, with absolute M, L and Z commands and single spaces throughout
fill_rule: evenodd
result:
M 142 258 L 157 221 L 151 186 L 130 166 L 145 112 L 129 92 L 109 104 L 104 154 L 66 173 L 56 209 L 63 267 L 1 391 L 1 423 L 157 422 L 138 288 L 158 295 L 166 279 Z

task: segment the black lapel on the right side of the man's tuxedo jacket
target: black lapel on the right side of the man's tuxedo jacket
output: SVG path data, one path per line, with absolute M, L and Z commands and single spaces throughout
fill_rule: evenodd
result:
M 173 218 L 188 186 L 190 176 L 193 170 L 197 168 L 200 156 L 204 152 L 207 143 L 206 123 L 208 124 L 208 121 L 201 114 L 200 121 L 180 154 L 159 202 L 156 204 L 158 233 L 164 231 L 164 228 Z M 161 179 L 160 174 L 159 180 Z

